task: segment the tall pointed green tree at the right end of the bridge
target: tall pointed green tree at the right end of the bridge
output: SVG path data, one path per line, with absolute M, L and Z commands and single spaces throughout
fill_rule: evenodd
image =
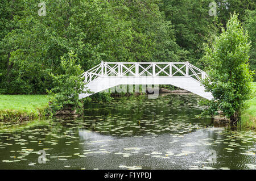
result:
M 220 110 L 236 125 L 242 108 L 246 107 L 245 101 L 251 97 L 250 42 L 236 13 L 231 15 L 226 27 L 212 47 L 205 47 L 203 60 L 209 65 L 210 78 L 203 85 L 214 97 L 205 113 L 213 115 Z

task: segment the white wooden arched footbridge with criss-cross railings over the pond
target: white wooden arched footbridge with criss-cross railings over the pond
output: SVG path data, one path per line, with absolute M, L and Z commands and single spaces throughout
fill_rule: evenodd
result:
M 93 93 L 80 94 L 80 99 L 118 85 L 173 85 L 209 100 L 213 98 L 201 85 L 208 75 L 189 62 L 102 61 L 82 77 L 85 88 Z

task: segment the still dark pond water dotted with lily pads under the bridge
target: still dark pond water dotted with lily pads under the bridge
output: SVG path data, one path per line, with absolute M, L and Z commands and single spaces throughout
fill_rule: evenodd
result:
M 1 128 L 0 169 L 256 169 L 256 132 L 197 119 L 200 99 L 115 98 L 79 119 Z

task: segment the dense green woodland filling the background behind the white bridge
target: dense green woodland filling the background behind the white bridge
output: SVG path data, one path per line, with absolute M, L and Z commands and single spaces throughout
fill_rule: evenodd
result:
M 203 43 L 221 32 L 217 24 L 225 26 L 233 11 L 255 39 L 255 3 L 249 0 L 216 1 L 218 18 L 208 14 L 208 0 L 43 2 L 45 16 L 38 0 L 0 2 L 0 94 L 46 93 L 54 86 L 49 73 L 60 74 L 60 57 L 71 51 L 83 70 L 100 61 L 190 61 L 202 67 Z

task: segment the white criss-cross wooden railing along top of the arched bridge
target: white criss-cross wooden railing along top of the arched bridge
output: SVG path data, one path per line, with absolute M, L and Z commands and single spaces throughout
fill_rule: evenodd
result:
M 201 82 L 205 71 L 189 62 L 104 62 L 82 74 L 85 83 L 98 77 L 191 77 Z

